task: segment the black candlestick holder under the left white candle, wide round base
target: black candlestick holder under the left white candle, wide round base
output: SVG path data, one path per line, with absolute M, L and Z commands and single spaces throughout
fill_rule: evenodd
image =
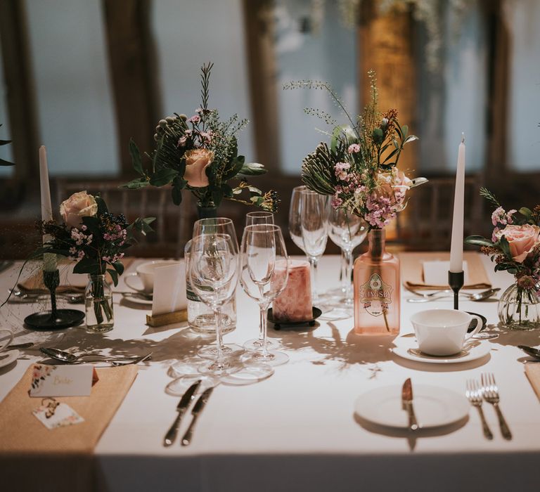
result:
M 44 271 L 43 283 L 51 292 L 51 311 L 33 313 L 25 318 L 25 324 L 37 330 L 60 330 L 79 325 L 84 320 L 84 313 L 78 309 L 57 309 L 56 288 L 60 285 L 58 270 Z

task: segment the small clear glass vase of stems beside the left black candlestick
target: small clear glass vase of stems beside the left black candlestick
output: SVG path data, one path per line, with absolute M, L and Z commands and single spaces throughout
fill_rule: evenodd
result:
M 89 275 L 84 291 L 86 309 L 86 332 L 104 333 L 113 330 L 115 313 L 113 291 L 105 282 L 104 275 Z

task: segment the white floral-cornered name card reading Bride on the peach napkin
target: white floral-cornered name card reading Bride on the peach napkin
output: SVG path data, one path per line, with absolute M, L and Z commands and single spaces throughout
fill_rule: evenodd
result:
M 34 364 L 30 396 L 88 396 L 93 382 L 91 365 Z

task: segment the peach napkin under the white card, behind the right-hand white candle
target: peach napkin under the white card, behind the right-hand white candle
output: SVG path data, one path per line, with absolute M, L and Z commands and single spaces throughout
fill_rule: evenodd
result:
M 442 260 L 448 261 L 450 253 L 445 252 L 402 252 L 399 253 L 401 261 L 401 278 L 404 284 L 411 289 L 446 289 L 448 284 L 443 285 L 428 285 L 424 281 L 423 262 Z M 463 285 L 465 289 L 489 289 L 491 283 L 487 277 L 484 264 L 480 259 L 480 254 L 477 252 L 463 252 L 463 259 L 468 265 L 468 283 Z

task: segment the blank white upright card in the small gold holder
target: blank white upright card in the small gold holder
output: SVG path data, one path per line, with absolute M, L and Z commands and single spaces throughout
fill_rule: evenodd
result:
M 187 307 L 186 261 L 155 268 L 152 316 L 175 313 Z

